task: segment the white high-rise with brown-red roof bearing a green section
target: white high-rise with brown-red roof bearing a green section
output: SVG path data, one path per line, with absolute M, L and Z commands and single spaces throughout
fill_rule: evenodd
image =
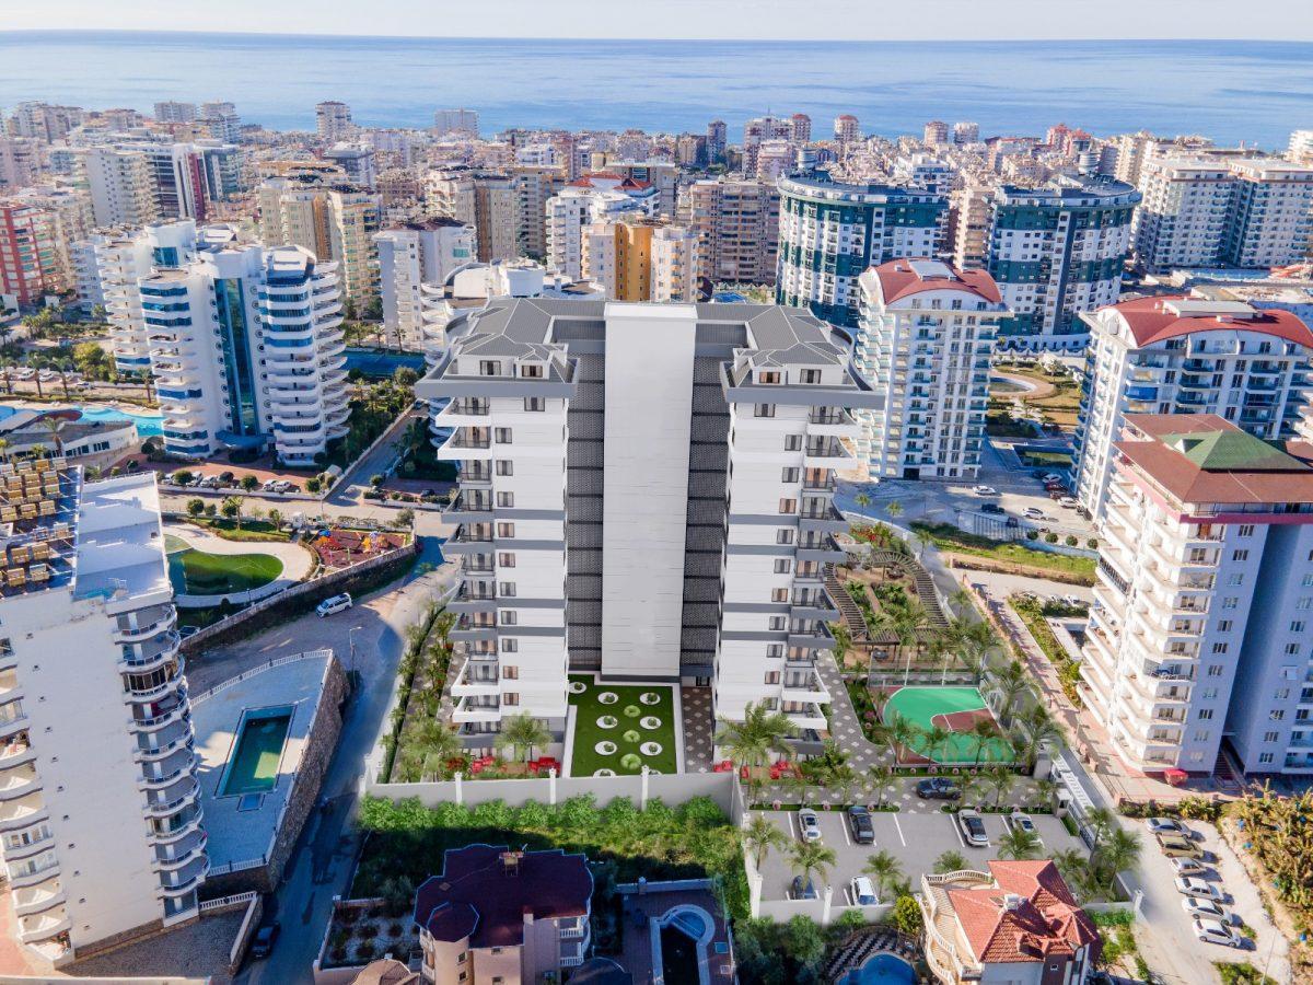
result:
M 1128 415 L 1116 444 L 1085 705 L 1144 772 L 1313 771 L 1313 445 L 1213 414 Z

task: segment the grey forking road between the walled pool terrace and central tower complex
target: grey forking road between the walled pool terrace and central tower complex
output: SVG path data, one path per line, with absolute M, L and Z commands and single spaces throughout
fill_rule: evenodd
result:
M 436 545 L 425 544 L 424 559 L 436 559 Z M 265 633 L 246 645 L 219 650 L 223 670 L 239 672 L 242 663 L 259 663 L 280 653 L 297 653 L 331 645 L 349 670 L 348 629 L 361 626 L 355 636 L 356 670 L 361 687 L 347 705 L 337 751 L 324 776 L 323 792 L 331 799 L 326 814 L 314 816 L 288 862 L 284 884 L 265 919 L 277 919 L 282 935 L 273 955 L 248 964 L 236 981 L 248 985 L 290 985 L 309 982 L 311 964 L 319 952 L 332 897 L 347 892 L 353 868 L 357 835 L 353 820 L 361 763 L 373 749 L 397 683 L 397 665 L 404 649 L 406 626 L 415 623 L 424 607 L 456 577 L 448 563 L 421 577 L 410 577 L 400 587 L 357 603 L 339 616 L 320 620 L 314 615 Z M 198 670 L 219 676 L 206 661 Z M 189 671 L 194 674 L 196 671 Z M 223 676 L 230 676 L 225 672 Z

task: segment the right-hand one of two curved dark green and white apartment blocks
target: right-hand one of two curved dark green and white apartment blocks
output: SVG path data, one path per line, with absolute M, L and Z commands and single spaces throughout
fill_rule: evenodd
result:
M 1140 192 L 1104 176 L 994 192 L 989 272 L 1011 315 L 999 340 L 1020 348 L 1083 347 L 1082 311 L 1121 293 Z

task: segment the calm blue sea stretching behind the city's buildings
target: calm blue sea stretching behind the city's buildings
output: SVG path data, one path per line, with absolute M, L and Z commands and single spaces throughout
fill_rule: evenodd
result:
M 138 32 L 0 32 L 0 106 L 89 109 L 230 100 L 246 122 L 314 129 L 348 102 L 364 126 L 421 127 L 436 108 L 506 127 L 704 131 L 839 113 L 865 133 L 973 120 L 986 135 L 1058 122 L 1285 146 L 1313 127 L 1313 43 L 1267 41 L 793 42 L 382 38 Z

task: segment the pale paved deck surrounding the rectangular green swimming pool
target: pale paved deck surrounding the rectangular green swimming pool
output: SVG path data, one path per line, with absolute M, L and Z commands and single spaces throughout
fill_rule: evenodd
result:
M 210 834 L 210 865 L 260 859 L 269 850 L 282 816 L 291 781 L 301 766 L 323 695 L 324 675 L 332 658 L 306 657 L 282 663 L 234 684 L 192 699 L 196 751 L 201 758 L 201 806 Z M 235 751 L 238 728 L 247 709 L 291 705 L 291 721 L 278 763 L 278 779 L 255 810 L 238 812 L 236 795 L 225 796 L 222 783 L 228 759 Z

